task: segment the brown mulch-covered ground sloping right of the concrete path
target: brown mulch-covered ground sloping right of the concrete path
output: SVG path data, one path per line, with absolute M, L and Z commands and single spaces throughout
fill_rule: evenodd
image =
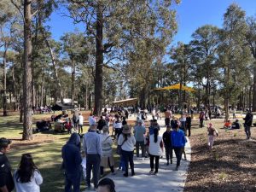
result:
M 220 129 L 211 151 L 207 149 L 206 131 L 192 134 L 192 159 L 184 192 L 256 191 L 256 127 L 252 132 L 253 140 L 249 141 L 243 128 Z

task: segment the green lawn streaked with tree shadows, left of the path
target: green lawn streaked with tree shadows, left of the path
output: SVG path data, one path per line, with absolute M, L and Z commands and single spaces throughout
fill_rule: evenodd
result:
M 33 121 L 49 118 L 51 114 L 33 115 Z M 33 124 L 33 127 L 35 125 Z M 68 134 L 34 134 L 32 141 L 20 141 L 22 124 L 19 115 L 0 117 L 0 136 L 13 140 L 12 149 L 7 154 L 13 170 L 19 163 L 21 154 L 31 153 L 35 164 L 44 177 L 42 192 L 61 192 L 64 189 L 64 176 L 61 171 L 61 148 L 67 142 Z M 82 186 L 84 189 L 84 185 Z

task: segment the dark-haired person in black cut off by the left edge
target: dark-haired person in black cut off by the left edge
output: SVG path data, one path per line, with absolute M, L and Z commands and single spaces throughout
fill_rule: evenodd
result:
M 10 192 L 15 188 L 11 166 L 6 155 L 11 147 L 11 141 L 4 137 L 0 138 L 0 191 Z

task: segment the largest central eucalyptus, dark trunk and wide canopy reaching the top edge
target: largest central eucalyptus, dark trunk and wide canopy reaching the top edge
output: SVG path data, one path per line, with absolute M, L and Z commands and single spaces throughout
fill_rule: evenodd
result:
M 134 37 L 144 38 L 140 30 L 144 26 L 156 26 L 156 18 L 161 17 L 160 23 L 167 24 L 166 28 L 162 28 L 162 32 L 168 32 L 175 24 L 175 13 L 171 10 L 173 1 L 66 2 L 73 19 L 76 22 L 84 22 L 88 35 L 96 38 L 95 113 L 100 114 L 103 102 L 103 67 L 113 67 L 112 64 L 122 57 L 119 55 L 122 53 L 120 49 L 125 49 L 126 44 Z

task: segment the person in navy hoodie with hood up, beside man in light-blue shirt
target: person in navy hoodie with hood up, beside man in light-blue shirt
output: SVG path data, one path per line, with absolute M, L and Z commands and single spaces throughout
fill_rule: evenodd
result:
M 81 163 L 80 137 L 73 133 L 61 149 L 63 168 L 65 170 L 65 192 L 80 191 Z

